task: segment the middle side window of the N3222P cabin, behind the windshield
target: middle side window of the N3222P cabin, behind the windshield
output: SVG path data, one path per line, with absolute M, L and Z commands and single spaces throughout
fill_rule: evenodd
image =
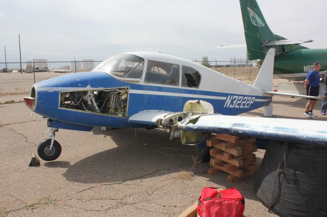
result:
M 152 84 L 179 85 L 179 65 L 148 60 L 144 81 Z

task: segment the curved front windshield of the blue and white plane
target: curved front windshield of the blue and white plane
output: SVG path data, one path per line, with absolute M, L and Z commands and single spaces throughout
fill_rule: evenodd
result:
M 110 59 L 99 70 L 122 78 L 141 79 L 144 59 L 135 55 L 122 54 Z

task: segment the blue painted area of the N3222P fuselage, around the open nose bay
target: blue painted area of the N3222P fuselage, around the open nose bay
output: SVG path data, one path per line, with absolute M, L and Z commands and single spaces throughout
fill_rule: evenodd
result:
M 271 102 L 271 97 L 265 96 L 251 96 L 256 99 L 266 99 L 268 101 L 255 101 L 249 108 L 230 108 L 224 107 L 226 100 L 224 99 L 207 99 L 205 96 L 210 97 L 228 97 L 228 95 L 246 96 L 243 94 L 229 94 L 219 93 L 212 91 L 201 91 L 197 89 L 183 89 L 178 87 L 160 87 L 139 85 L 123 82 L 115 79 L 112 76 L 104 72 L 86 72 L 86 73 L 74 73 L 69 75 L 58 76 L 43 82 L 37 83 L 39 91 L 37 92 L 37 106 L 35 112 L 45 117 L 49 117 L 54 120 L 75 123 L 81 125 L 92 126 L 111 126 L 111 127 L 131 127 L 128 123 L 128 117 L 144 111 L 144 110 L 164 110 L 170 112 L 183 111 L 184 103 L 188 100 L 204 100 L 211 103 L 214 106 L 214 110 L 217 113 L 223 115 L 238 115 L 255 108 L 262 107 Z M 108 115 L 86 113 L 76 110 L 64 110 L 59 109 L 59 91 L 52 88 L 120 88 L 129 87 L 130 92 L 138 90 L 142 93 L 129 93 L 127 118 L 117 118 Z M 49 91 L 46 89 L 49 88 Z M 50 91 L 51 90 L 51 91 Z M 147 94 L 147 91 L 157 92 L 158 95 Z M 160 95 L 162 92 L 163 95 Z M 169 93 L 180 93 L 183 96 L 171 96 Z M 188 94 L 188 96 L 185 96 Z M 191 94 L 191 96 L 189 96 Z M 192 95 L 203 95 L 192 96 Z

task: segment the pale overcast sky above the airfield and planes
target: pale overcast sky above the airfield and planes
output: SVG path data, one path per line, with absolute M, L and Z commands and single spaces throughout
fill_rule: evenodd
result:
M 313 39 L 327 48 L 326 0 L 258 0 L 274 32 L 288 39 Z M 161 51 L 187 59 L 245 58 L 239 0 L 67 1 L 2 0 L 0 61 L 45 58 L 103 60 L 126 51 Z

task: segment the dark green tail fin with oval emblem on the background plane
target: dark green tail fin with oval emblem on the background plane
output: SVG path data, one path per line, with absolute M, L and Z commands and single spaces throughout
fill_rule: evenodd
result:
M 271 32 L 255 0 L 240 0 L 240 5 L 248 58 L 249 60 L 263 59 L 268 50 L 262 46 L 263 43 L 275 41 L 276 37 Z

